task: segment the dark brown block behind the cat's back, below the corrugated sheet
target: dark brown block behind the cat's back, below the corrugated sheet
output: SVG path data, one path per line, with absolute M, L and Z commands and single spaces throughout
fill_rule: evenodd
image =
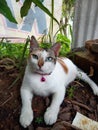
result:
M 90 74 L 90 69 L 93 69 L 93 77 L 94 81 L 98 83 L 98 56 L 95 54 L 93 55 L 86 49 L 79 48 L 76 52 L 69 57 L 71 60 L 84 72 L 88 75 Z

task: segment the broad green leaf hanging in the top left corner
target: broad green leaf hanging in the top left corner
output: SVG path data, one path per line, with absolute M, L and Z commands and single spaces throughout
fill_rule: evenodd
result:
M 10 8 L 7 5 L 6 0 L 0 0 L 0 13 L 4 15 L 9 21 L 13 23 L 17 23 L 16 19 L 14 18 Z

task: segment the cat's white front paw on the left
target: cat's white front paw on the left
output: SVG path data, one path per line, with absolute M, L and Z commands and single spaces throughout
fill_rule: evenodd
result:
M 28 127 L 33 120 L 33 111 L 32 110 L 27 110 L 23 111 L 20 115 L 20 124 L 26 128 Z

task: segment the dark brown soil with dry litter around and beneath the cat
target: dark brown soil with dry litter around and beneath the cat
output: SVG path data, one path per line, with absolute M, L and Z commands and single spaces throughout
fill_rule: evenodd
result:
M 0 130 L 24 130 L 19 123 L 22 82 L 22 76 L 19 75 L 20 71 L 16 67 L 0 67 Z M 93 94 L 89 85 L 82 81 L 75 80 L 68 86 L 57 122 L 46 126 L 43 115 L 50 102 L 51 96 L 34 97 L 32 108 L 35 118 L 27 130 L 76 130 L 70 124 L 77 111 L 98 121 L 98 97 Z

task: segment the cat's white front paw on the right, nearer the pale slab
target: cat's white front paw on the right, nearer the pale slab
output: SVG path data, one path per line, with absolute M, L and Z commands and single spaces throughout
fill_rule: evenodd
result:
M 54 111 L 51 108 L 48 108 L 44 115 L 44 120 L 47 125 L 52 125 L 56 122 L 58 112 Z

